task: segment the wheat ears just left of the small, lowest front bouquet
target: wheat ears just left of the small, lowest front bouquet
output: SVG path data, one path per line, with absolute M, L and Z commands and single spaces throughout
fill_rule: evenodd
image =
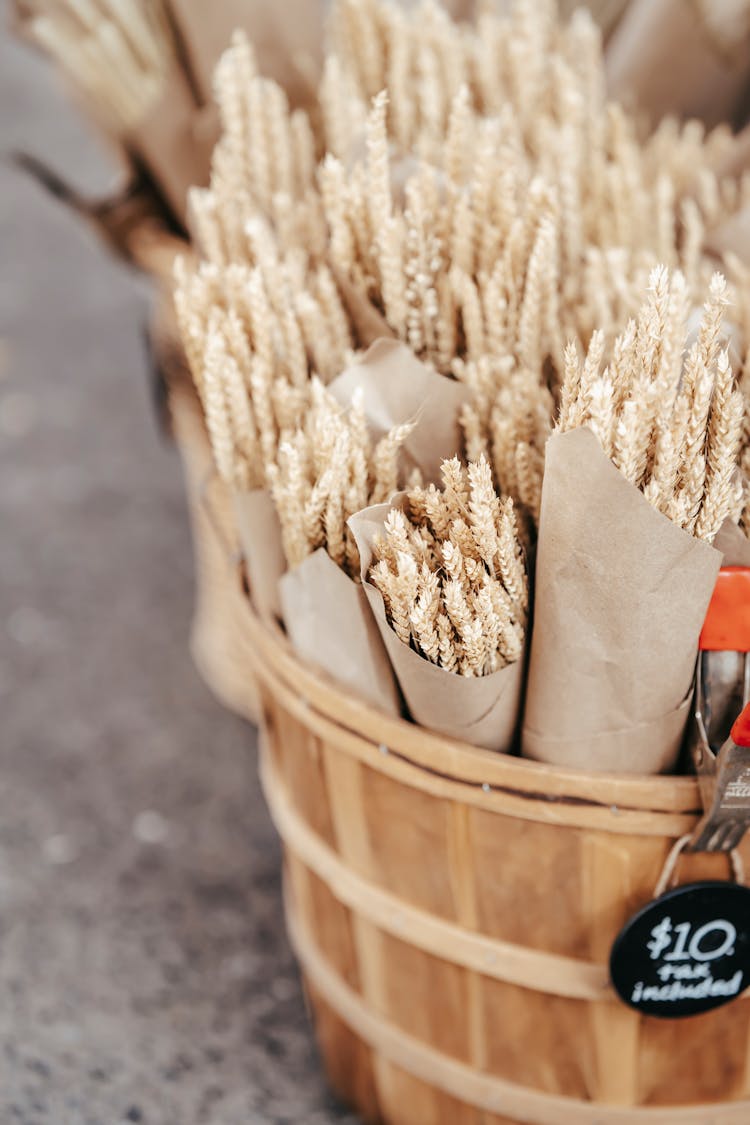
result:
M 298 426 L 281 435 L 278 458 L 266 466 L 284 555 L 293 567 L 323 547 L 359 580 L 359 552 L 346 521 L 403 485 L 400 449 L 414 423 L 394 426 L 374 442 L 361 396 L 344 411 L 319 379 L 309 387 Z

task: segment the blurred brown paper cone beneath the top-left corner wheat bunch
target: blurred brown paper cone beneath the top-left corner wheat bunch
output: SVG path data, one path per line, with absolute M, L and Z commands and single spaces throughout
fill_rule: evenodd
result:
M 188 189 L 208 183 L 217 137 L 215 110 L 196 106 L 184 74 L 174 68 L 162 97 L 125 138 L 127 147 L 148 168 L 183 226 Z

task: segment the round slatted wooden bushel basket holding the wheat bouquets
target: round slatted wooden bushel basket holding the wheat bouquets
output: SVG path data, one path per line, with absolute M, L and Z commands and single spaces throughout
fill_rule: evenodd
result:
M 289 933 L 345 1100 L 388 1125 L 748 1125 L 747 994 L 659 1020 L 616 1000 L 606 969 L 695 824 L 695 781 L 439 738 L 361 705 L 242 613 Z M 679 867 L 728 876 L 723 856 Z

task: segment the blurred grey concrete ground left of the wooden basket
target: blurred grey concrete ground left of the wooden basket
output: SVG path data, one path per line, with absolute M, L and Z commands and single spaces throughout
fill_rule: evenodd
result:
M 111 169 L 0 0 L 0 147 Z M 0 165 L 0 1122 L 328 1125 L 253 730 L 188 656 L 147 294 Z

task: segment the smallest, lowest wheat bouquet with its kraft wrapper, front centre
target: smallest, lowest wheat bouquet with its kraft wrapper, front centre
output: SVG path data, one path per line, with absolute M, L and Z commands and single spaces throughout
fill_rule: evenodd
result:
M 485 459 L 442 478 L 353 516 L 362 583 L 412 718 L 508 750 L 528 612 L 513 501 Z

